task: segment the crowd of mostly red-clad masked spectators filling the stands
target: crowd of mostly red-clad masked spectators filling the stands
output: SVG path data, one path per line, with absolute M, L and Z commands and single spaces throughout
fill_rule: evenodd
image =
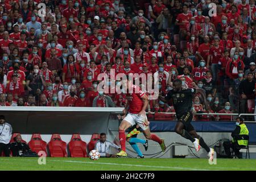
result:
M 2 0 L 0 17 L 1 106 L 123 107 L 124 93 L 97 90 L 114 69 L 158 73 L 162 95 L 176 78 L 204 89 L 210 108 L 197 94 L 197 113 L 254 112 L 255 0 Z

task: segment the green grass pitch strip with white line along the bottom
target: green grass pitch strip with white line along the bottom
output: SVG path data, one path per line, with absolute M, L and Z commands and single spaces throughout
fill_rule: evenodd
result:
M 39 165 L 38 158 L 0 158 L 0 170 L 36 170 L 36 171 L 243 171 L 256 170 L 255 159 L 217 159 L 217 164 L 210 165 L 208 159 L 131 159 L 100 158 L 46 158 L 46 164 Z

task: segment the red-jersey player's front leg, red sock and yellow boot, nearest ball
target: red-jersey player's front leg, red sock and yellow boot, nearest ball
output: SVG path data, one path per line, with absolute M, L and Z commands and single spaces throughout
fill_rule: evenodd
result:
M 121 145 L 121 152 L 117 154 L 117 156 L 124 156 L 126 157 L 126 147 L 125 147 L 125 142 L 126 142 L 126 136 L 125 136 L 125 130 L 128 129 L 131 126 L 131 124 L 125 120 L 123 120 L 119 126 L 119 140 L 120 140 L 120 145 Z

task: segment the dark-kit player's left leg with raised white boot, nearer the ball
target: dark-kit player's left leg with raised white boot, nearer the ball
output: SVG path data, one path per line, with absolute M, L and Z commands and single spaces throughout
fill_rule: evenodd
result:
M 194 144 L 195 148 L 196 148 L 196 151 L 198 152 L 200 150 L 200 144 L 199 144 L 199 139 L 197 138 L 193 138 L 189 133 L 188 131 L 186 131 L 184 129 L 184 124 L 181 122 L 181 121 L 178 121 L 176 123 L 176 126 L 175 126 L 175 132 L 179 135 L 181 135 L 182 137 L 188 139 L 188 140 L 191 140 L 191 142 Z

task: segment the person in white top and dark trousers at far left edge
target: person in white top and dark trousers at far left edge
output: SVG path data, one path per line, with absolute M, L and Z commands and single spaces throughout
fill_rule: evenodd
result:
M 10 140 L 13 128 L 6 123 L 5 116 L 0 115 L 0 156 L 4 152 L 6 157 L 10 156 Z

